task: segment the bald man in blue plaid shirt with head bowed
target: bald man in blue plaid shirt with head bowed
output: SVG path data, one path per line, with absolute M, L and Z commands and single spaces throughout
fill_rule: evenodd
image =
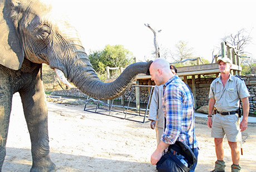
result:
M 198 141 L 195 138 L 194 98 L 188 85 L 173 74 L 170 64 L 165 59 L 158 58 L 150 65 L 151 80 L 156 85 L 164 84 L 163 109 L 166 127 L 160 143 L 151 155 L 151 164 L 156 165 L 163 152 L 176 140 L 182 141 L 193 149 L 198 157 Z M 194 171 L 196 163 L 190 171 Z

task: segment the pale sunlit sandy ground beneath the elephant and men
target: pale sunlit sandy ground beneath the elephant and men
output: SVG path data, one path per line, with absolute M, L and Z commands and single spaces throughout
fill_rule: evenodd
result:
M 57 171 L 156 171 L 150 155 L 156 148 L 155 130 L 149 122 L 139 123 L 83 111 L 83 105 L 48 102 L 51 159 Z M 29 171 L 32 165 L 29 134 L 21 100 L 15 94 L 7 155 L 2 171 Z M 119 114 L 124 117 L 124 114 Z M 142 117 L 138 118 L 143 120 Z M 147 118 L 146 118 L 147 121 Z M 255 124 L 243 132 L 242 171 L 256 171 Z M 196 171 L 213 169 L 215 149 L 206 118 L 196 118 L 200 151 Z M 232 165 L 227 139 L 224 141 L 227 168 Z

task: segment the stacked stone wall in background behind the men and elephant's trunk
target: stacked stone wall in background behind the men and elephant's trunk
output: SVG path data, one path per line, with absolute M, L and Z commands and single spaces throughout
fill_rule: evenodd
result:
M 254 74 L 250 75 L 241 75 L 241 78 L 244 79 L 245 84 L 247 85 L 247 88 L 250 93 L 250 113 L 256 113 L 256 77 Z M 197 108 L 202 107 L 203 105 L 208 105 L 209 102 L 209 89 L 210 89 L 210 83 L 215 78 L 196 78 L 195 79 L 195 92 L 196 92 L 196 106 Z M 154 82 L 151 82 L 151 80 L 140 80 L 139 85 L 154 85 Z M 188 79 L 188 85 L 191 88 L 192 80 Z M 130 92 L 131 88 L 127 89 L 127 91 L 124 94 L 125 100 L 129 100 L 130 98 Z M 82 93 L 80 90 L 76 88 L 71 88 L 69 90 L 56 90 L 51 93 L 51 95 L 60 95 L 60 96 L 68 96 L 68 97 L 81 97 L 86 98 L 87 95 Z M 140 102 L 141 103 L 147 103 L 147 100 L 149 99 L 149 91 L 146 87 L 141 88 L 140 92 Z M 135 102 L 135 89 L 132 91 L 131 96 L 131 102 Z

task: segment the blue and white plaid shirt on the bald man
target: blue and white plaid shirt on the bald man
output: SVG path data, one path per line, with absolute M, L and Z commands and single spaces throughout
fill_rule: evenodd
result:
M 177 75 L 164 84 L 163 108 L 166 128 L 161 140 L 174 144 L 182 141 L 190 148 L 198 148 L 195 138 L 194 98 L 188 85 Z

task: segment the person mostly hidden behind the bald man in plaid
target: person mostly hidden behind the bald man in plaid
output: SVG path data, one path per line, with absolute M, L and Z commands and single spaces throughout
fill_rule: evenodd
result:
M 177 69 L 174 65 L 170 65 L 171 72 L 176 75 Z M 163 98 L 163 85 L 155 85 L 154 92 L 152 95 L 149 120 L 151 120 L 150 127 L 156 131 L 156 142 L 157 145 L 161 141 L 161 136 L 164 131 L 164 110 L 162 105 Z

